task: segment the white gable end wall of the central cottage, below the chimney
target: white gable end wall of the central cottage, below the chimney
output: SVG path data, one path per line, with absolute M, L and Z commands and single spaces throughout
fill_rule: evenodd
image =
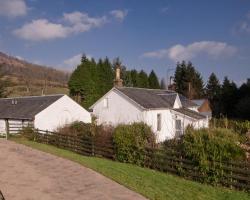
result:
M 105 107 L 105 99 L 108 100 L 108 107 Z M 93 106 L 93 115 L 97 117 L 97 124 L 113 126 L 143 121 L 142 110 L 115 90 L 111 90 Z

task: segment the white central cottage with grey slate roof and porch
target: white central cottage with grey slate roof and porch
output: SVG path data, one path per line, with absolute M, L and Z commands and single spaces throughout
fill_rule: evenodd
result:
M 187 125 L 208 127 L 208 118 L 198 106 L 174 91 L 132 87 L 113 87 L 90 107 L 98 124 L 144 122 L 162 142 L 184 134 Z

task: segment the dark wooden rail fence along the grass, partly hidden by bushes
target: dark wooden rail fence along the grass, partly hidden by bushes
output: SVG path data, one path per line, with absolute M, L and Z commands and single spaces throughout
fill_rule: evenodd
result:
M 108 159 L 115 159 L 115 150 L 112 141 L 98 142 L 92 137 L 79 137 L 72 135 L 62 135 L 42 130 L 36 131 L 36 141 L 67 149 L 85 156 L 101 156 Z M 184 158 L 180 153 L 169 148 L 165 150 L 145 149 L 144 167 L 155 169 L 162 172 L 170 172 L 191 180 L 199 182 L 209 182 L 209 178 L 217 184 L 250 191 L 250 163 L 249 162 L 213 162 L 210 163 L 210 174 L 202 173 L 197 163 Z M 213 169 L 216 169 L 213 171 Z M 219 170 L 218 170 L 219 169 Z

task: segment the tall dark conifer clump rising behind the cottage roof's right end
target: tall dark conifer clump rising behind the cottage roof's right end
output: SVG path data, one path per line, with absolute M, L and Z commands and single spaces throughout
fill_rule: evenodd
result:
M 204 95 L 203 80 L 191 62 L 177 63 L 174 81 L 176 91 L 191 99 L 201 98 Z

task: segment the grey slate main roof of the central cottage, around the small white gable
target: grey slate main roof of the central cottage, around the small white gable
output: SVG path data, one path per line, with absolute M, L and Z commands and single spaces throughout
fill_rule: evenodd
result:
M 117 90 L 146 109 L 173 108 L 177 93 L 171 90 L 117 87 Z M 186 97 L 179 95 L 184 107 L 197 106 Z

